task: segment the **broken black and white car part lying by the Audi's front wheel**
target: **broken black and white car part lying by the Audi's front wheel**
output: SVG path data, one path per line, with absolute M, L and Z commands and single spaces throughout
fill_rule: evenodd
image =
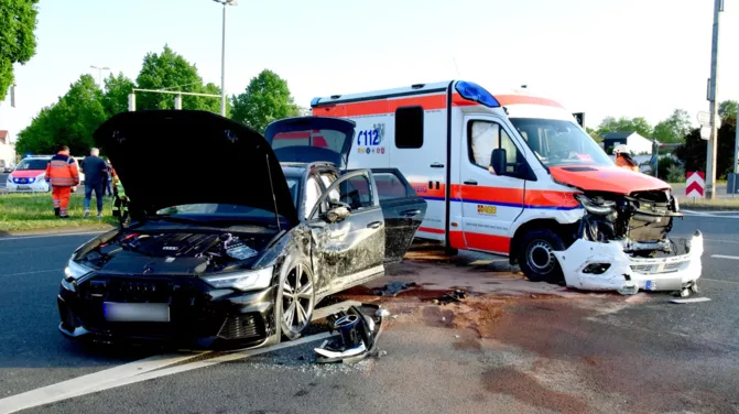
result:
M 318 363 L 352 363 L 370 355 L 377 355 L 377 338 L 382 330 L 381 310 L 384 309 L 372 305 L 363 306 L 376 307 L 377 319 L 355 306 L 326 318 L 330 331 L 338 331 L 339 335 L 325 340 L 320 347 L 314 349 Z

